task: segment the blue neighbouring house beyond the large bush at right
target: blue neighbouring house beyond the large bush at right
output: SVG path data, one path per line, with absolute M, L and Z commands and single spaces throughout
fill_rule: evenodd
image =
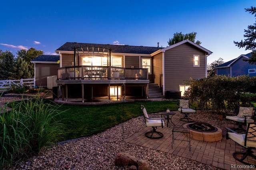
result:
M 220 64 L 214 67 L 216 75 L 226 75 L 230 77 L 249 75 L 250 77 L 256 76 L 256 65 L 249 64 L 244 59 L 251 57 L 251 54 L 240 55 L 238 58 Z

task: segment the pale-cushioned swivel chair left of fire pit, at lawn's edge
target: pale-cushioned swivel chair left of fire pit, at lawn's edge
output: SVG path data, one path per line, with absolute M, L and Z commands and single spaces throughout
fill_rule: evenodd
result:
M 151 131 L 145 133 L 145 136 L 151 139 L 159 139 L 164 136 L 163 133 L 156 131 L 157 127 L 164 127 L 164 120 L 162 117 L 159 118 L 149 118 L 146 108 L 141 105 L 141 110 L 144 115 L 146 126 L 152 127 Z

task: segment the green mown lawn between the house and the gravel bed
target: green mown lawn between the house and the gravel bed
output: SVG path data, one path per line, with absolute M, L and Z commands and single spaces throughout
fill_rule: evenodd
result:
M 66 105 L 60 109 L 66 110 L 58 116 L 58 121 L 63 124 L 63 135 L 59 141 L 75 139 L 100 133 L 123 121 L 142 115 L 140 105 L 144 105 L 148 113 L 177 110 L 176 101 L 143 101 L 124 102 L 102 105 Z

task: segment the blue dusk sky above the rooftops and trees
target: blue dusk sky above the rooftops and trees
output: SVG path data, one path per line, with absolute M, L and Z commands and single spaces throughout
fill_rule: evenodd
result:
M 226 62 L 250 53 L 233 41 L 255 23 L 244 10 L 251 6 L 255 0 L 8 0 L 1 2 L 0 49 L 50 55 L 66 42 L 166 47 L 174 33 L 196 32 L 213 52 L 207 63 Z

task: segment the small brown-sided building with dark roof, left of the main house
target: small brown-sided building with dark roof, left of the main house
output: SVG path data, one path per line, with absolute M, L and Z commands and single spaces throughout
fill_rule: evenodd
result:
M 30 61 L 34 63 L 36 86 L 46 87 L 47 77 L 57 75 L 57 68 L 60 67 L 60 64 L 57 63 L 58 60 L 60 60 L 58 55 L 39 55 Z

